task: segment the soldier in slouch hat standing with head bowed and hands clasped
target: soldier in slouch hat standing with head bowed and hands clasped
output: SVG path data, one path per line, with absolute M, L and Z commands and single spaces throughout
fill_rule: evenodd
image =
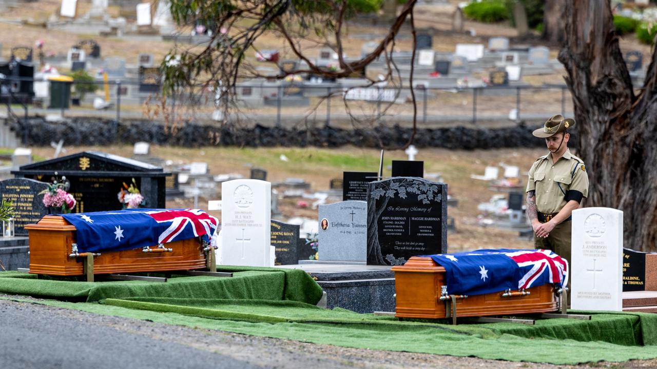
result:
M 545 139 L 549 154 L 532 165 L 527 183 L 527 217 L 534 248 L 552 250 L 570 263 L 570 214 L 589 195 L 584 162 L 568 150 L 567 129 L 575 120 L 557 114 L 533 135 Z

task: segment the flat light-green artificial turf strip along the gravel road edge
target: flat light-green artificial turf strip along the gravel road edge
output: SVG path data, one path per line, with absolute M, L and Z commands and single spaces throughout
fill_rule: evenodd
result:
M 20 300 L 20 299 L 17 299 Z M 29 301 L 34 302 L 34 301 Z M 608 337 L 594 337 L 595 341 L 550 338 L 544 332 L 533 337 L 524 326 L 510 323 L 463 324 L 450 326 L 436 322 L 399 322 L 394 318 L 359 315 L 344 309 L 327 310 L 304 306 L 294 301 L 260 303 L 258 301 L 189 301 L 184 305 L 164 304 L 164 300 L 147 301 L 112 300 L 98 303 L 70 303 L 64 301 L 39 301 L 46 305 L 78 309 L 89 313 L 123 316 L 176 324 L 191 328 L 222 330 L 261 337 L 293 339 L 317 344 L 328 344 L 361 349 L 407 351 L 463 357 L 545 362 L 551 364 L 579 364 L 600 360 L 620 362 L 633 359 L 657 358 L 657 346 L 620 345 L 601 341 Z M 169 301 L 179 303 L 178 301 Z M 110 305 L 110 303 L 115 305 Z M 141 304 L 141 305 L 131 305 Z M 148 305 L 151 304 L 151 305 Z M 132 306 L 129 309 L 123 306 Z M 156 306 L 154 306 L 156 305 Z M 159 305 L 169 305 L 168 308 Z M 177 306 L 177 307 L 176 307 Z M 141 309 L 134 309 L 141 307 Z M 164 309 L 182 313 L 162 312 Z M 146 309 L 150 308 L 150 309 Z M 153 309 L 155 308 L 155 309 Z M 187 310 L 191 309 L 191 310 Z M 271 313 L 273 309 L 273 313 Z M 212 313 L 205 311 L 214 311 Z M 270 315 L 265 313 L 270 312 Z M 237 315 L 240 313 L 242 315 Z M 205 317 L 202 317 L 205 316 Z M 318 320 L 324 319 L 323 322 Z M 618 321 L 619 327 L 641 326 L 639 315 L 595 314 L 593 320 L 581 325 L 581 320 L 539 320 L 538 326 L 563 324 L 572 329 L 589 330 L 599 322 Z M 556 322 L 555 322 L 556 321 Z M 528 326 L 532 328 L 531 326 Z M 516 336 L 517 328 L 523 328 L 524 336 Z M 566 328 L 564 328 L 566 330 Z M 591 330 L 595 332 L 595 330 Z M 626 328 L 618 335 L 630 335 Z

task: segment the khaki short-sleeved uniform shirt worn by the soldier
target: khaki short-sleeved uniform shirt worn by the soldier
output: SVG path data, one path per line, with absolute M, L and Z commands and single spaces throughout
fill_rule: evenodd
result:
M 536 209 L 543 214 L 558 213 L 566 206 L 568 190 L 577 190 L 589 196 L 589 175 L 584 162 L 566 150 L 552 162 L 552 154 L 538 158 L 532 165 L 527 192 L 536 191 Z

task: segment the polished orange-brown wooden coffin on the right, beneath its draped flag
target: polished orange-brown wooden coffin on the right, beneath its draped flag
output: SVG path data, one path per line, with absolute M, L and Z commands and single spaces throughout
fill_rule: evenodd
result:
M 392 267 L 395 272 L 395 290 L 399 318 L 446 318 L 451 306 L 440 299 L 442 286 L 446 286 L 445 268 L 430 257 L 414 256 L 403 266 Z M 552 284 L 526 290 L 528 295 L 512 291 L 510 297 L 503 292 L 486 293 L 458 298 L 457 317 L 549 313 L 558 310 L 558 299 Z M 449 299 L 451 301 L 451 299 Z

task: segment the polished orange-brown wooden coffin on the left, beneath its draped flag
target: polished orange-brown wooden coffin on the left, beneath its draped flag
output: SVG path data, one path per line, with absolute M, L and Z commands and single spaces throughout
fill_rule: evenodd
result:
M 63 217 L 46 215 L 36 224 L 25 227 L 30 238 L 30 273 L 57 276 L 85 274 L 85 257 L 70 257 L 76 250 L 76 227 Z M 99 251 L 93 258 L 94 274 L 129 272 L 187 271 L 208 267 L 206 251 L 198 238 L 190 238 L 166 244 L 170 252 L 123 250 Z M 213 250 L 214 251 L 214 250 Z

